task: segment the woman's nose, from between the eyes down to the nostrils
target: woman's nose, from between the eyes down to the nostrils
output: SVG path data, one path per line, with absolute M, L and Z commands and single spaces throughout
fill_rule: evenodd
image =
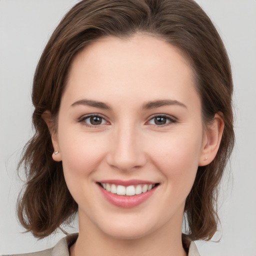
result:
M 110 137 L 107 163 L 121 171 L 138 169 L 146 162 L 141 132 L 128 124 L 116 127 Z

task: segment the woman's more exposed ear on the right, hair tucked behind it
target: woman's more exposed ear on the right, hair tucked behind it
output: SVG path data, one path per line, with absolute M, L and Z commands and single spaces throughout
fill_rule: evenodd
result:
M 214 115 L 213 122 L 206 124 L 198 166 L 209 164 L 217 154 L 224 130 L 222 113 Z

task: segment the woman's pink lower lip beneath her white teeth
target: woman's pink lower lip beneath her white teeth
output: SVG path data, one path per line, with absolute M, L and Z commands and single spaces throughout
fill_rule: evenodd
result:
M 148 199 L 154 192 L 156 186 L 154 186 L 152 189 L 149 191 L 146 191 L 141 194 L 135 194 L 135 195 L 118 195 L 118 194 L 113 194 L 107 190 L 105 190 L 103 187 L 100 185 L 99 189 L 106 198 L 106 200 L 110 203 L 112 203 L 115 206 L 122 207 L 122 208 L 131 208 L 135 207 L 142 202 L 144 202 L 146 199 Z

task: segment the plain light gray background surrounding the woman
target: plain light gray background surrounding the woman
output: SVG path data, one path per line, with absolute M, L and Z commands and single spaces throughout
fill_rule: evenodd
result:
M 15 217 L 20 182 L 15 167 L 31 135 L 30 90 L 40 53 L 76 0 L 0 0 L 0 254 L 42 250 L 21 233 Z M 213 240 L 197 242 L 201 255 L 256 255 L 256 0 L 197 0 L 216 24 L 233 71 L 236 146 L 232 174 L 220 189 L 221 226 Z M 77 221 L 74 225 L 77 226 Z M 76 228 L 67 229 L 71 232 Z

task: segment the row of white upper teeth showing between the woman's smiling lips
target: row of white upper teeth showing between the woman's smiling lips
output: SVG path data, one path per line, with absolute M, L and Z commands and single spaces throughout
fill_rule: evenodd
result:
M 112 194 L 132 196 L 132 195 L 145 193 L 145 192 L 151 190 L 153 187 L 157 186 L 159 183 L 138 184 L 138 185 L 129 185 L 129 186 L 116 185 L 116 184 L 111 184 L 111 183 L 102 183 L 102 182 L 98 182 L 98 184 L 102 188 L 104 188 L 106 191 L 108 191 Z

